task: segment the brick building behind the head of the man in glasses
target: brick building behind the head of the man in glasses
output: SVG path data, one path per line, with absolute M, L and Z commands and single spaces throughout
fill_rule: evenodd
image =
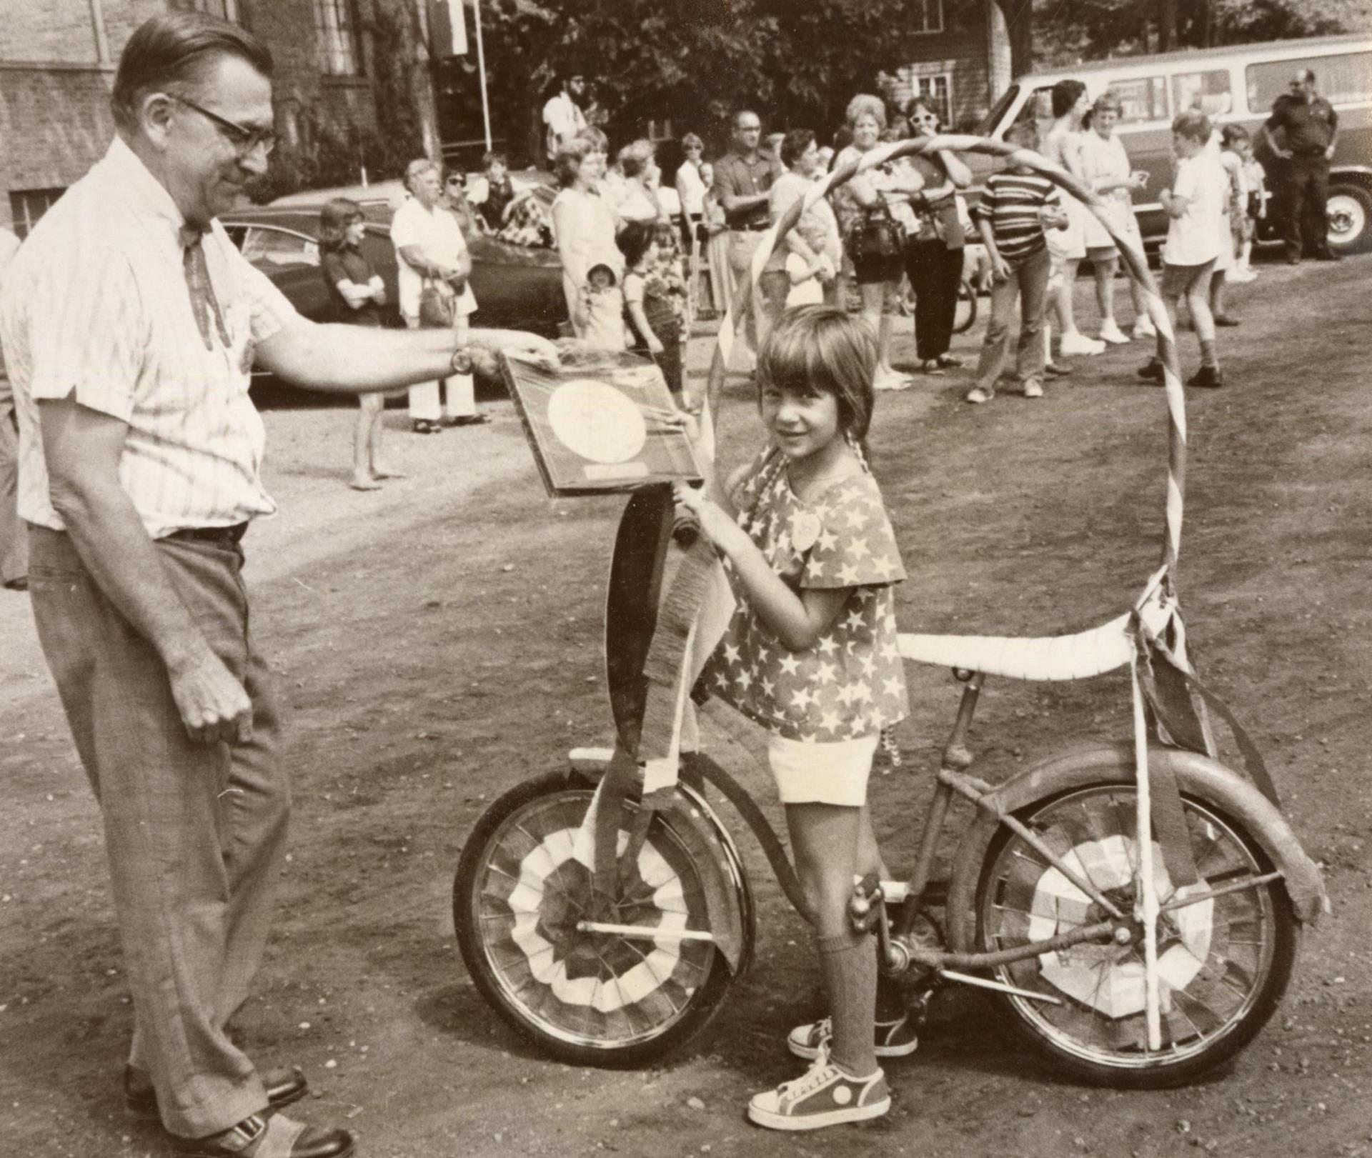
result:
M 376 125 L 372 29 L 398 0 L 29 0 L 0 21 L 0 225 L 23 236 L 114 136 L 110 89 L 133 30 L 196 8 L 241 23 L 276 59 L 281 150 L 309 151 L 328 128 Z

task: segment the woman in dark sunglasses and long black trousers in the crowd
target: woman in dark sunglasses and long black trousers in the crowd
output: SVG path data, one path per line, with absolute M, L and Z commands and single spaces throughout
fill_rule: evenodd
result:
M 916 137 L 943 132 L 938 113 L 926 97 L 911 100 L 906 115 Z M 948 346 L 958 311 L 965 241 L 956 193 L 971 184 L 971 170 L 948 150 L 911 156 L 910 163 L 923 178 L 923 189 L 914 198 L 919 231 L 906 243 L 906 276 L 915 294 L 919 369 L 936 375 L 962 365 Z

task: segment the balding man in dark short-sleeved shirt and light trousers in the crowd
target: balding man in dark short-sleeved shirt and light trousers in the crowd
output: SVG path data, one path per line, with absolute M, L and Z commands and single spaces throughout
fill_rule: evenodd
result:
M 734 114 L 734 147 L 715 162 L 715 192 L 729 225 L 729 268 L 735 281 L 752 277 L 750 266 L 761 233 L 770 224 L 768 202 L 772 181 L 782 174 L 781 162 L 759 148 L 763 122 L 750 108 Z M 768 273 L 785 270 L 785 254 L 775 254 Z M 786 307 L 783 279 L 766 277 L 748 299 L 745 333 L 756 355 L 771 331 L 771 322 Z

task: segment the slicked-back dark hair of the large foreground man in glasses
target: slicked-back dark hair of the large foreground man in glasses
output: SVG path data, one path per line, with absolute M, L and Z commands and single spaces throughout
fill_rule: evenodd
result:
M 119 56 L 110 108 L 115 123 L 132 129 L 139 102 L 150 92 L 193 92 L 215 60 L 237 56 L 263 77 L 272 75 L 272 54 L 235 23 L 203 12 L 163 12 L 139 25 Z

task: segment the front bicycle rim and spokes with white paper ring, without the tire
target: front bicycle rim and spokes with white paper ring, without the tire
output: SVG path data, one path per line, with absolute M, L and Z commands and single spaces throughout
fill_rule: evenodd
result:
M 617 903 L 597 903 L 573 841 L 591 800 L 586 789 L 536 797 L 487 840 L 473 882 L 483 963 L 499 999 L 538 1035 L 568 1045 L 623 1050 L 667 1035 L 719 967 L 705 893 L 690 853 L 654 820 Z M 627 833 L 619 834 L 623 856 Z M 579 932 L 578 921 L 649 926 L 653 940 Z

